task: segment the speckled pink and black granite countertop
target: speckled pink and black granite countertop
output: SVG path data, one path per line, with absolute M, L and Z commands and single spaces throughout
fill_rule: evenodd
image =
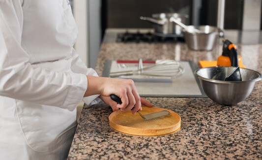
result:
M 243 64 L 262 73 L 262 44 L 237 44 Z M 103 43 L 95 67 L 101 76 L 106 60 L 216 60 L 212 51 L 192 51 L 184 43 Z M 262 81 L 251 95 L 233 106 L 207 97 L 145 97 L 155 107 L 180 115 L 184 128 L 164 136 L 131 136 L 109 126 L 109 106 L 84 106 L 69 152 L 69 160 L 262 159 Z

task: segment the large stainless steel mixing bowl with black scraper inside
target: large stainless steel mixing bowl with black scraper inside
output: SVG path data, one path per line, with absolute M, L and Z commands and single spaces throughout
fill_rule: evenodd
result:
M 261 73 L 240 68 L 242 81 L 225 81 L 235 67 L 206 67 L 197 69 L 194 74 L 200 79 L 206 96 L 222 105 L 233 105 L 246 99 L 255 83 L 262 79 Z

